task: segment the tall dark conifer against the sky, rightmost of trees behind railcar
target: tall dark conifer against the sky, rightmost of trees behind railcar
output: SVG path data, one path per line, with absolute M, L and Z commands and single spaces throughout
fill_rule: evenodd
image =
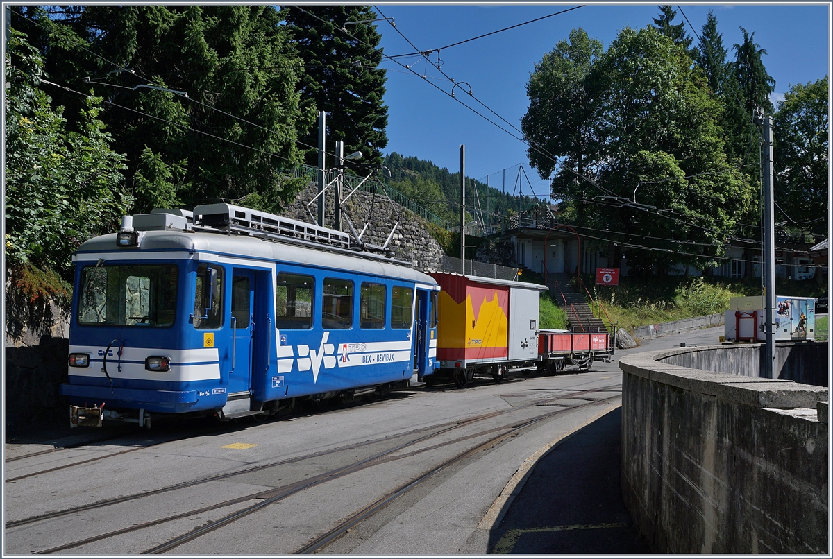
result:
M 387 146 L 387 78 L 379 67 L 382 37 L 372 23 L 377 17 L 369 6 L 288 7 L 286 13 L 305 65 L 305 106 L 327 112 L 328 146 L 343 141 L 345 154 L 362 151 L 372 165 L 382 164 Z M 305 129 L 302 141 L 315 148 L 317 126 Z M 307 153 L 307 163 L 317 165 L 317 151 Z

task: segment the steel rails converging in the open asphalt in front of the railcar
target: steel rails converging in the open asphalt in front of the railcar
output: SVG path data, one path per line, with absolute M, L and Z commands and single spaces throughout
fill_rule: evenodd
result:
M 117 537 L 130 532 L 137 532 L 143 529 L 147 529 L 149 527 L 158 526 L 167 522 L 173 522 L 187 517 L 193 517 L 195 515 L 199 515 L 205 512 L 216 512 L 224 507 L 239 507 L 243 503 L 250 502 L 252 500 L 257 500 L 257 502 L 253 504 L 247 504 L 244 507 L 239 508 L 238 510 L 225 514 L 224 516 L 218 518 L 213 522 L 208 522 L 202 527 L 198 527 L 197 529 L 194 529 L 190 532 L 182 533 L 178 537 L 173 537 L 172 539 L 169 539 L 167 542 L 163 542 L 162 544 L 159 544 L 157 546 L 150 547 L 142 552 L 148 554 L 164 553 L 176 547 L 179 547 L 186 542 L 191 542 L 192 540 L 202 537 L 210 532 L 214 532 L 223 526 L 231 524 L 232 522 L 236 522 L 242 517 L 246 517 L 247 515 L 260 511 L 265 507 L 269 507 L 270 505 L 276 502 L 280 502 L 283 499 L 286 499 L 287 497 L 295 495 L 299 492 L 303 492 L 307 489 L 311 489 L 312 487 L 317 487 L 319 485 L 322 485 L 323 483 L 332 482 L 334 480 L 350 475 L 351 473 L 359 472 L 370 467 L 381 465 L 383 463 L 405 460 L 407 458 L 415 457 L 419 454 L 429 453 L 438 448 L 450 447 L 453 445 L 466 445 L 466 443 L 468 443 L 466 448 L 462 449 L 459 452 L 455 452 L 451 458 L 448 458 L 442 461 L 440 464 L 436 465 L 435 467 L 432 467 L 430 470 L 423 472 L 420 476 L 416 477 L 415 480 L 408 482 L 402 487 L 395 488 L 392 492 L 387 493 L 385 497 L 382 497 L 381 499 L 377 500 L 377 502 L 372 503 L 372 505 L 365 507 L 364 509 L 362 509 L 362 511 L 353 514 L 346 521 L 338 523 L 336 527 L 333 527 L 332 529 L 324 533 L 322 536 L 313 539 L 312 542 L 307 543 L 306 546 L 302 547 L 302 549 L 299 549 L 297 551 L 303 553 L 314 552 L 318 549 L 321 549 L 322 547 L 326 547 L 329 542 L 332 542 L 335 538 L 339 537 L 341 534 L 346 532 L 350 527 L 356 525 L 358 522 L 362 522 L 363 519 L 371 516 L 374 512 L 377 512 L 382 507 L 384 507 L 388 502 L 391 502 L 399 495 L 402 495 L 402 493 L 409 491 L 412 487 L 416 487 L 422 482 L 425 482 L 426 480 L 434 476 L 436 473 L 441 472 L 447 467 L 450 467 L 455 463 L 459 463 L 461 460 L 470 457 L 472 454 L 477 453 L 483 450 L 484 448 L 493 447 L 501 443 L 501 441 L 506 440 L 507 438 L 511 438 L 515 436 L 517 433 L 521 433 L 524 429 L 529 428 L 531 425 L 544 421 L 547 418 L 552 418 L 559 414 L 569 413 L 579 408 L 591 406 L 596 403 L 603 403 L 613 398 L 618 398 L 618 395 L 616 395 L 609 398 L 587 398 L 586 400 L 579 399 L 583 396 L 586 396 L 587 394 L 617 391 L 619 388 L 619 385 L 616 384 L 601 388 L 592 388 L 588 390 L 562 390 L 549 398 L 539 398 L 536 399 L 536 401 L 526 403 L 522 406 L 514 408 L 501 409 L 496 412 L 483 413 L 471 418 L 464 418 L 461 420 L 449 421 L 446 423 L 427 426 L 423 428 L 416 428 L 408 431 L 407 433 L 397 433 L 386 438 L 377 438 L 364 443 L 356 443 L 340 448 L 333 448 L 326 451 L 321 451 L 318 453 L 308 453 L 300 457 L 287 458 L 280 461 L 260 464 L 254 467 L 243 468 L 235 472 L 219 474 L 217 476 L 203 477 L 192 482 L 180 483 L 170 487 L 162 487 L 151 492 L 137 493 L 134 495 L 118 497 L 115 499 L 109 499 L 102 502 L 83 505 L 80 507 L 72 507 L 63 511 L 52 512 L 38 517 L 30 517 L 17 522 L 7 522 L 6 527 L 7 529 L 14 527 L 22 527 L 27 524 L 45 522 L 47 520 L 52 520 L 58 517 L 77 515 L 82 512 L 102 509 L 104 507 L 112 506 L 117 503 L 130 502 L 137 499 L 156 496 L 165 492 L 181 490 L 186 487 L 194 487 L 197 485 L 206 484 L 208 482 L 230 479 L 233 477 L 242 476 L 243 474 L 266 470 L 268 468 L 281 467 L 290 463 L 303 463 L 304 461 L 322 458 L 327 455 L 344 453 L 346 451 L 354 451 L 357 448 L 366 447 L 368 445 L 380 445 L 387 443 L 387 448 L 383 448 L 382 450 L 372 453 L 365 458 L 358 459 L 355 462 L 348 463 L 342 467 L 332 468 L 326 472 L 322 472 L 313 477 L 297 480 L 294 482 L 289 482 L 285 485 L 282 485 L 281 487 L 274 487 L 268 489 L 267 491 L 253 492 L 246 495 L 242 495 L 240 497 L 227 499 L 222 502 L 209 504 L 205 507 L 197 507 L 191 510 L 187 510 L 186 512 L 179 512 L 177 514 L 158 517 L 151 521 L 137 523 L 133 526 L 123 527 L 117 530 L 104 532 L 91 537 L 85 537 L 72 542 L 65 542 L 59 546 L 49 547 L 47 549 L 42 549 L 41 551 L 37 552 L 40 554 L 62 552 L 67 549 L 82 547 L 92 542 L 99 542 L 108 538 Z M 457 436 L 456 438 L 441 440 L 440 442 L 435 443 L 433 445 L 424 446 L 424 443 L 430 442 L 432 438 L 442 438 L 442 436 L 446 436 L 447 433 L 452 433 L 463 428 L 470 428 L 471 426 L 476 426 L 476 424 L 478 423 L 486 422 L 492 418 L 499 418 L 506 414 L 522 414 L 523 410 L 526 410 L 528 408 L 534 408 L 536 406 L 546 406 L 548 403 L 551 404 L 556 399 L 564 398 L 570 398 L 574 401 L 577 400 L 582 403 L 577 403 L 569 407 L 554 408 L 551 411 L 548 411 L 547 413 L 539 413 L 531 418 L 515 419 L 511 423 L 504 423 L 494 427 L 483 428 L 474 432 L 460 433 L 459 436 Z M 486 438 L 485 441 L 482 440 L 484 438 Z M 472 440 L 476 443 L 473 447 L 471 446 L 471 443 L 469 443 Z M 394 444 L 391 445 L 389 443 Z M 411 450 L 408 450 L 409 448 L 411 448 Z

